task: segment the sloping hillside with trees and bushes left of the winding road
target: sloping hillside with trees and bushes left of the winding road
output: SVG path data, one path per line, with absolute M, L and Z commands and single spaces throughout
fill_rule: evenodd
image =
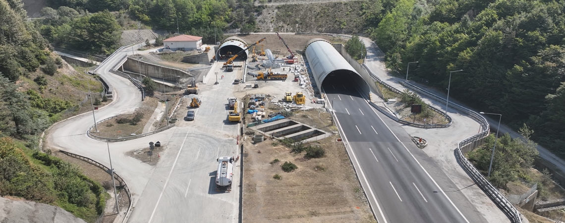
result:
M 38 147 L 47 127 L 85 111 L 87 83 L 101 89 L 53 55 L 19 0 L 0 0 L 1 196 L 57 205 L 90 222 L 103 212 L 99 183 Z

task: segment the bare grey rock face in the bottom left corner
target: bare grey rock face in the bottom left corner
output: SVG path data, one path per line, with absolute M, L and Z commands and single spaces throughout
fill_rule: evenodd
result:
M 49 204 L 0 198 L 0 222 L 12 223 L 86 223 L 63 208 Z

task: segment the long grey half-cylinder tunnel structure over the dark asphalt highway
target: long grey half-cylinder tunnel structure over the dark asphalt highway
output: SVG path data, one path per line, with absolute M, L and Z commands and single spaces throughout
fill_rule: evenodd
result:
M 314 38 L 306 44 L 306 59 L 318 90 L 321 92 L 324 82 L 351 80 L 359 85 L 361 94 L 368 95 L 370 86 L 357 71 L 345 60 L 332 43 L 321 38 Z

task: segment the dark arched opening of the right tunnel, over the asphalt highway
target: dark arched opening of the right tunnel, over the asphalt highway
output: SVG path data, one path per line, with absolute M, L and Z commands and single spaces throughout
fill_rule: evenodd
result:
M 368 98 L 367 82 L 357 73 L 349 70 L 336 70 L 323 78 L 321 87 L 326 94 L 346 94 L 353 97 Z

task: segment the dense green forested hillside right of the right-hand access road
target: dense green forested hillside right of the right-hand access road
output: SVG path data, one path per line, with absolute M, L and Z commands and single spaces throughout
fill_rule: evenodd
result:
M 447 88 L 565 157 L 565 1 L 400 0 L 371 37 L 393 72 Z M 367 24 L 374 24 L 367 21 Z

